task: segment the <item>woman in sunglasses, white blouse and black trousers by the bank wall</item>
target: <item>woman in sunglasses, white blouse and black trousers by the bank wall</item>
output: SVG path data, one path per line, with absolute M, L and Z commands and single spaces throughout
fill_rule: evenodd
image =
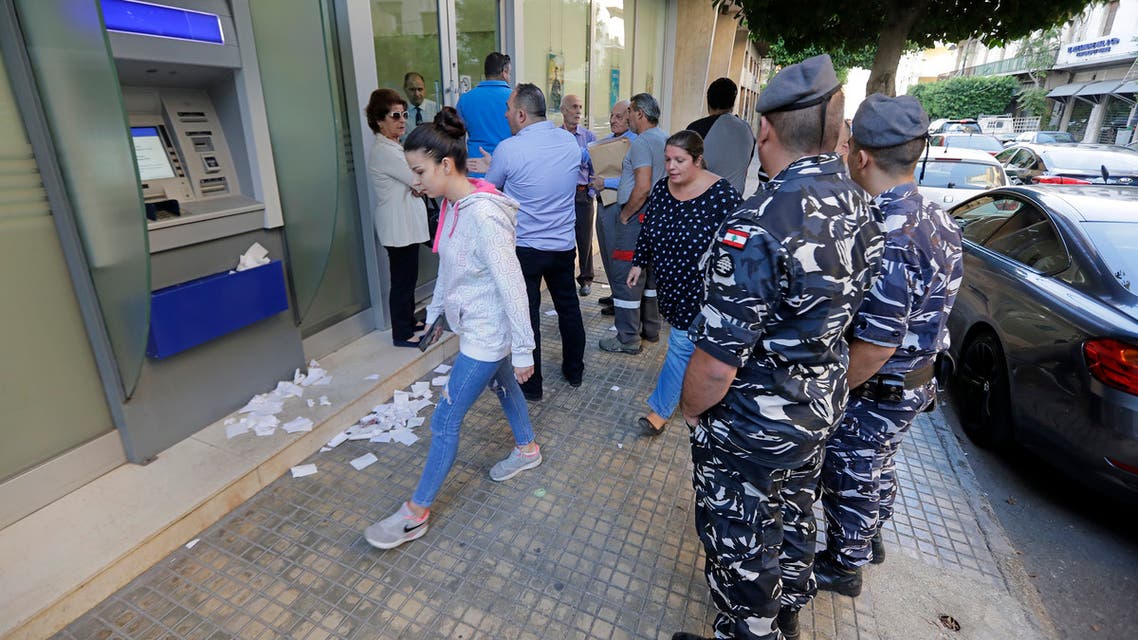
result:
M 407 102 L 397 91 L 371 92 L 368 126 L 376 141 L 368 154 L 368 173 L 376 194 L 376 235 L 387 249 L 391 274 L 388 307 L 391 312 L 391 343 L 417 346 L 415 282 L 419 280 L 419 245 L 430 237 L 422 194 L 411 188 L 414 175 L 407 169 L 399 138 L 407 129 Z

